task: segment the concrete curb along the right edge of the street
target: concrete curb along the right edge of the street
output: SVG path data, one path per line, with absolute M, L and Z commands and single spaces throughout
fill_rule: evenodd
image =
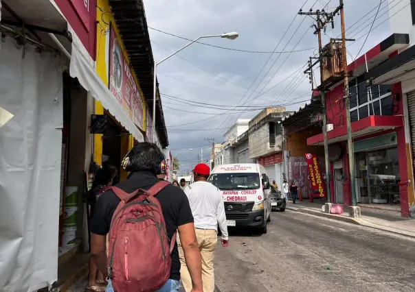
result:
M 381 231 L 384 231 L 384 232 L 389 232 L 389 233 L 392 233 L 392 234 L 398 234 L 398 235 L 401 235 L 401 236 L 406 236 L 406 237 L 415 239 L 415 234 L 413 234 L 413 233 L 405 233 L 405 232 L 392 230 L 391 228 L 384 228 L 384 227 L 380 227 L 380 226 L 378 227 L 378 226 L 374 226 L 371 223 L 366 224 L 366 223 L 363 223 L 363 222 L 359 221 L 359 219 L 353 219 L 353 218 L 344 217 L 344 216 L 341 216 L 341 215 L 328 214 L 328 213 L 324 213 L 324 212 L 317 211 L 317 210 L 311 210 L 309 208 L 295 208 L 295 207 L 287 206 L 286 209 L 294 211 L 294 212 L 300 212 L 300 213 L 304 213 L 304 214 L 315 215 L 315 216 L 318 216 L 318 217 L 324 217 L 324 218 L 333 219 L 333 220 L 337 220 L 337 221 L 343 221 L 343 222 L 346 222 L 346 223 L 352 223 L 352 224 L 359 225 L 359 226 L 365 226 L 365 227 L 368 227 L 368 228 L 381 230 Z

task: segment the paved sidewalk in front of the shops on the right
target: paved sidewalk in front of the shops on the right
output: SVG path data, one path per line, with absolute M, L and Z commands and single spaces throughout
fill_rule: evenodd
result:
M 383 230 L 385 232 L 409 236 L 415 239 L 414 219 L 385 215 L 376 212 L 362 212 L 361 218 L 351 218 L 349 217 L 347 210 L 345 210 L 345 213 L 342 215 L 333 215 L 323 212 L 322 206 L 324 203 L 325 202 L 311 203 L 308 201 L 303 201 L 292 204 L 291 202 L 288 202 L 287 210 L 344 221 L 360 226 L 374 228 L 377 230 Z

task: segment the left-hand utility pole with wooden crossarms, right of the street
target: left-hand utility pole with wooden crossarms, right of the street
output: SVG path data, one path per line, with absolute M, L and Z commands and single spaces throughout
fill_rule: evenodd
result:
M 328 162 L 328 141 L 327 141 L 327 107 L 326 107 L 326 88 L 324 88 L 324 80 L 323 80 L 323 64 L 322 60 L 324 58 L 324 54 L 322 53 L 322 29 L 325 29 L 327 23 L 331 22 L 332 26 L 334 25 L 333 17 L 336 12 L 334 13 L 326 13 L 324 10 L 316 10 L 313 12 L 313 10 L 310 10 L 309 12 L 298 12 L 300 15 L 309 15 L 309 16 L 316 16 L 316 23 L 313 25 L 315 27 L 314 34 L 317 34 L 318 37 L 318 51 L 319 56 L 317 60 L 320 62 L 320 88 L 321 95 L 322 95 L 322 106 L 323 106 L 323 136 L 324 136 L 324 162 L 326 167 L 326 194 L 327 194 L 327 203 L 328 206 L 326 206 L 325 210 L 326 212 L 330 212 L 331 208 L 331 195 L 330 195 L 330 162 Z M 313 90 L 313 65 L 316 64 L 312 62 L 312 57 L 310 57 L 309 60 L 309 68 L 304 71 L 304 73 L 308 73 L 311 75 L 310 82 L 311 82 L 311 88 Z

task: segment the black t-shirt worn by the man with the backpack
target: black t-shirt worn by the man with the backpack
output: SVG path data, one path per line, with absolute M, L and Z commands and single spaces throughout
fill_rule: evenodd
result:
M 159 181 L 153 173 L 139 172 L 133 173 L 128 180 L 117 184 L 117 187 L 126 193 L 133 193 L 137 188 L 148 190 Z M 194 220 L 188 197 L 180 188 L 173 185 L 166 186 L 155 197 L 161 204 L 169 239 L 175 234 L 178 226 L 193 223 Z M 93 218 L 91 219 L 92 233 L 105 235 L 109 232 L 111 219 L 119 203 L 120 199 L 113 191 L 106 191 L 99 197 Z M 172 251 L 170 279 L 180 280 L 180 260 L 177 243 Z

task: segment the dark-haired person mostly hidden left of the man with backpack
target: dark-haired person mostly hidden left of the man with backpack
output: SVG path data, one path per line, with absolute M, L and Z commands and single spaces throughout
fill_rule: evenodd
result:
M 96 208 L 96 202 L 98 198 L 104 193 L 109 186 L 113 184 L 113 179 L 117 175 L 111 167 L 103 167 L 98 169 L 95 174 L 95 178 L 92 183 L 91 190 L 88 193 L 89 214 L 93 217 Z M 100 292 L 105 291 L 106 281 L 104 276 L 93 261 L 92 257 L 89 258 L 89 275 L 88 284 L 85 291 Z

